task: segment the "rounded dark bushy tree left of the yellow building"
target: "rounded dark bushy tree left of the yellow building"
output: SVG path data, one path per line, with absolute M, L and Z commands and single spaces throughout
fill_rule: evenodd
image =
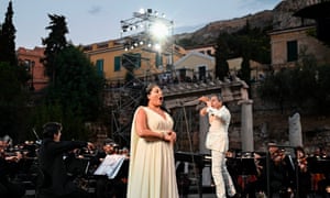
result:
M 95 120 L 102 107 L 103 77 L 77 47 L 69 45 L 54 59 L 57 75 L 50 82 L 47 102 L 70 110 L 82 121 Z

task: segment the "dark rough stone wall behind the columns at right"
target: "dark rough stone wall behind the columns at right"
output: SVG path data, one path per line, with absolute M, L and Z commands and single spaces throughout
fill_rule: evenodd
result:
M 241 148 L 241 109 L 237 103 L 229 103 L 232 113 L 230 125 L 230 147 Z M 296 112 L 293 107 L 284 110 L 274 103 L 253 98 L 253 138 L 255 151 L 266 151 L 268 141 L 289 145 L 288 118 Z M 330 154 L 330 117 L 302 111 L 300 113 L 302 144 L 308 153 L 322 146 Z

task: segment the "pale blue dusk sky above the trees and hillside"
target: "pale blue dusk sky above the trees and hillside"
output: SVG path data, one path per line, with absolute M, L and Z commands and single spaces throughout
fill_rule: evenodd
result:
M 282 0 L 12 0 L 15 46 L 42 46 L 48 36 L 47 14 L 64 15 L 68 41 L 88 45 L 120 38 L 120 21 L 140 9 L 152 9 L 174 21 L 174 33 L 191 32 L 210 22 L 274 9 Z M 3 23 L 9 0 L 0 1 Z

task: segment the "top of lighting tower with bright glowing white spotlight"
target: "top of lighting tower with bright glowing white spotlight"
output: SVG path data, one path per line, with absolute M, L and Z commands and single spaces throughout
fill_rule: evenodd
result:
M 173 21 L 165 14 L 152 9 L 141 9 L 133 18 L 120 21 L 121 37 L 125 51 L 147 47 L 151 51 L 162 51 L 168 37 L 173 34 Z

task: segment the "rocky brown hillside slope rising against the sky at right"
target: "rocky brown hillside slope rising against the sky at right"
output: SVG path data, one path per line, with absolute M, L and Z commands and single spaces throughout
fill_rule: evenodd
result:
M 217 37 L 220 33 L 233 33 L 241 30 L 249 21 L 251 28 L 272 28 L 273 30 L 290 29 L 295 26 L 301 26 L 302 20 L 300 18 L 295 18 L 293 14 L 297 12 L 300 8 L 306 6 L 307 1 L 296 1 L 286 0 L 279 2 L 273 10 L 265 10 L 257 12 L 255 14 L 249 14 L 242 18 L 235 18 L 231 20 L 222 20 L 210 22 L 204 28 L 193 32 L 183 33 L 175 35 L 175 41 L 180 43 L 184 42 L 184 47 L 191 47 L 194 45 L 207 45 L 216 43 Z M 304 20 L 304 24 L 314 24 L 314 20 Z

